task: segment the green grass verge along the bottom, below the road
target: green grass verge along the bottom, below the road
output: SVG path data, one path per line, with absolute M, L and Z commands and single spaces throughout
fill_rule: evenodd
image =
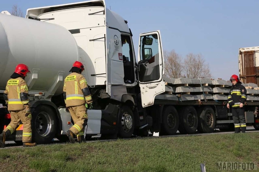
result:
M 203 162 L 209 172 L 218 171 L 216 162 L 259 164 L 259 132 L 0 149 L 0 171 L 6 172 L 192 172 Z

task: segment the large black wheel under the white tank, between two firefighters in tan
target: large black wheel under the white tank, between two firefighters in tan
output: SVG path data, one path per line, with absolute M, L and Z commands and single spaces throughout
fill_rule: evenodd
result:
M 55 136 L 57 129 L 56 113 L 50 106 L 38 105 L 32 113 L 33 141 L 37 144 L 48 144 Z

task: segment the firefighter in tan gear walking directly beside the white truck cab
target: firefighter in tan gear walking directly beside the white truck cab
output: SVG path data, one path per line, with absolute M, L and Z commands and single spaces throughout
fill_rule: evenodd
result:
M 84 141 L 84 127 L 87 125 L 87 109 L 92 109 L 92 97 L 83 75 L 84 65 L 80 61 L 75 61 L 73 67 L 64 81 L 63 96 L 66 107 L 68 108 L 74 125 L 67 131 L 67 136 L 71 143 L 75 143 L 74 137 L 77 136 L 78 142 Z

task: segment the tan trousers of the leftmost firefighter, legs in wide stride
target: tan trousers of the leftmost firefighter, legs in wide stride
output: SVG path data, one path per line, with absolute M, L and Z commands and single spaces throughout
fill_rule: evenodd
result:
M 25 116 L 26 110 L 22 109 L 19 111 L 9 111 L 11 114 L 11 122 L 10 124 L 4 129 L 4 131 L 11 131 L 11 134 L 16 130 L 19 126 L 20 121 L 23 124 L 23 131 L 22 131 L 22 142 L 31 142 L 32 141 L 32 129 L 31 129 L 31 115 L 28 117 Z

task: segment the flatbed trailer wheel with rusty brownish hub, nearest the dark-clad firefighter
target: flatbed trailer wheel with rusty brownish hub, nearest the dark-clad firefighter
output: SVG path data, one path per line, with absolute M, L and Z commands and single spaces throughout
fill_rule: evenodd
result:
M 200 133 L 212 133 L 216 127 L 216 115 L 210 106 L 205 106 L 200 111 L 197 130 Z

